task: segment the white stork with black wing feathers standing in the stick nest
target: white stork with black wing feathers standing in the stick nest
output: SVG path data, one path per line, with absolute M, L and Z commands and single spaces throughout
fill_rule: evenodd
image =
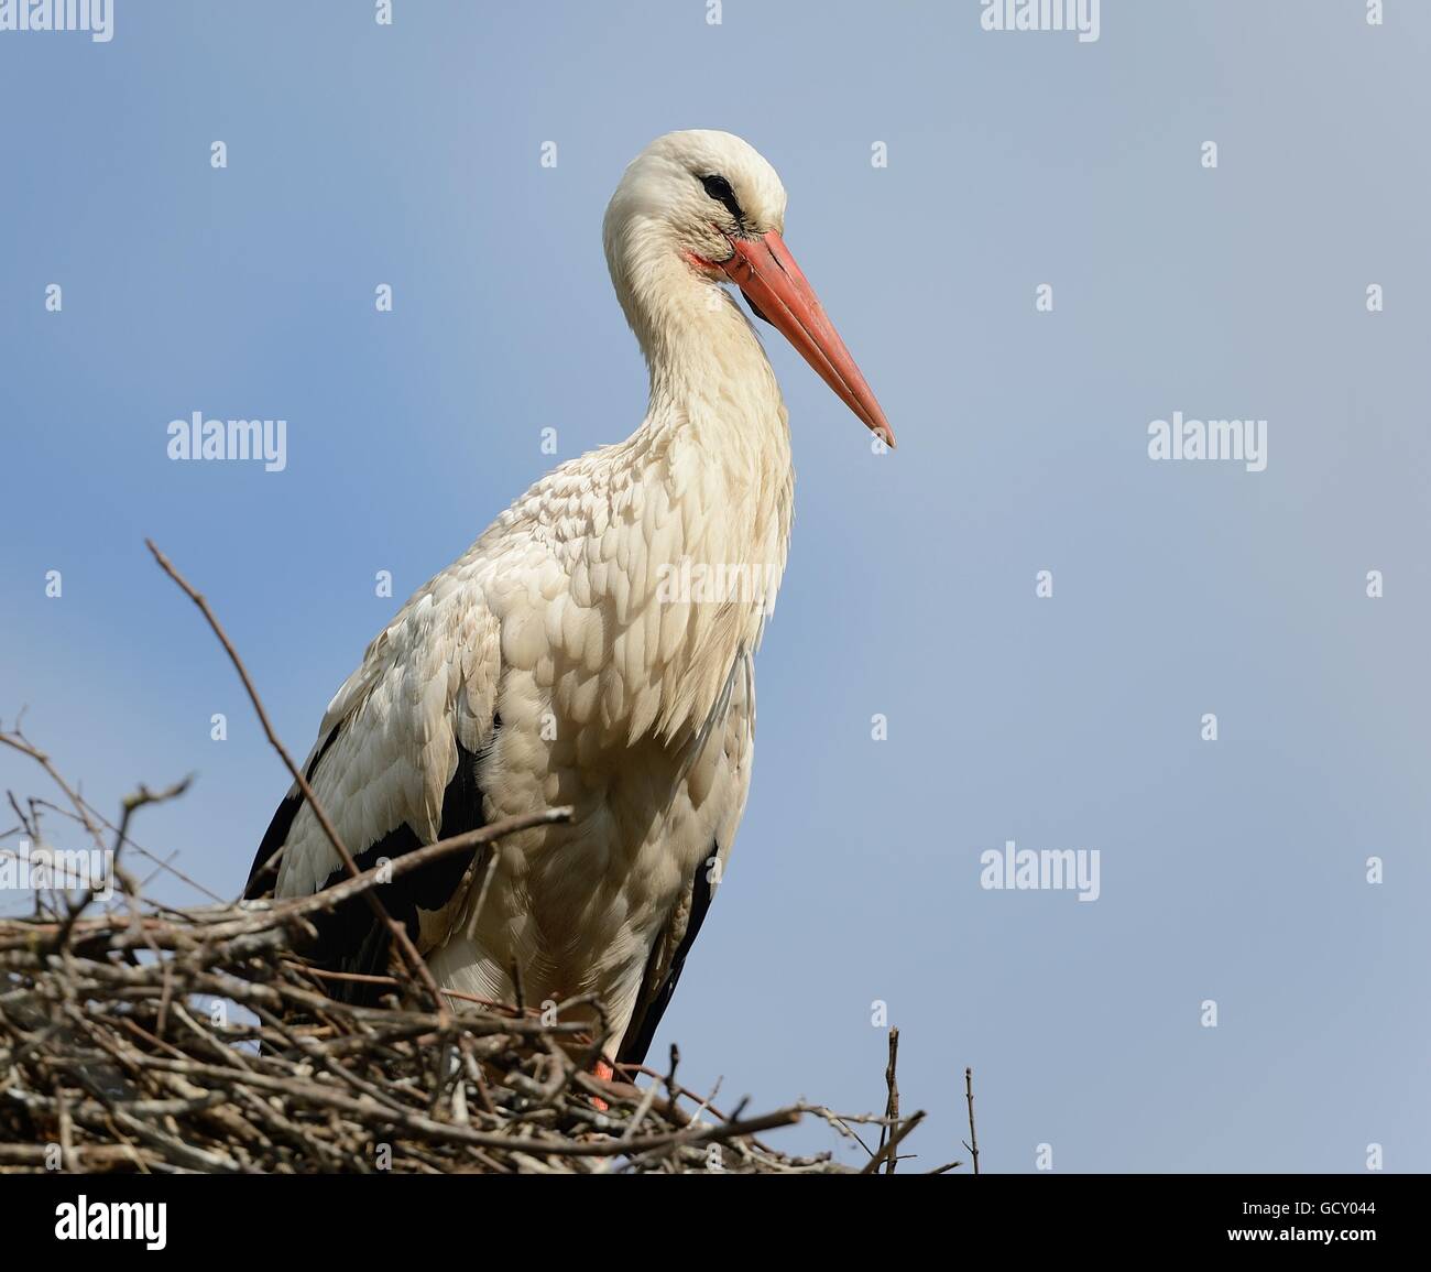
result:
M 414 593 L 328 705 L 305 762 L 362 868 L 574 805 L 571 824 L 434 862 L 382 898 L 444 990 L 512 1001 L 515 968 L 527 1001 L 598 994 L 611 1028 L 601 1077 L 645 1056 L 736 838 L 751 657 L 790 539 L 786 408 L 723 284 L 893 444 L 781 239 L 784 213 L 774 169 L 730 133 L 668 133 L 627 168 L 604 239 L 650 368 L 645 420 L 544 477 Z M 761 590 L 684 596 L 683 566 Z M 306 895 L 343 874 L 295 785 L 248 895 Z M 362 905 L 322 945 L 349 973 L 389 957 Z

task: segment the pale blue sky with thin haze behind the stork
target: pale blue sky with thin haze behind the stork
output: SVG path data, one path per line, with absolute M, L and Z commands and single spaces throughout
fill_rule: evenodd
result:
M 794 543 L 653 1056 L 723 1104 L 876 1109 L 881 1000 L 929 1167 L 972 1064 L 990 1170 L 1431 1169 L 1431 9 L 1385 9 L 1105 0 L 1079 42 L 976 0 L 117 0 L 109 43 L 0 32 L 0 718 L 102 806 L 196 771 L 136 838 L 236 892 L 286 776 L 142 539 L 305 751 L 412 587 L 640 423 L 601 212 L 651 138 L 728 129 L 900 448 L 771 334 Z M 170 461 L 195 411 L 286 420 L 286 468 Z M 1175 411 L 1268 421 L 1265 471 L 1153 461 Z M 1096 849 L 1098 900 L 980 887 L 1009 839 Z

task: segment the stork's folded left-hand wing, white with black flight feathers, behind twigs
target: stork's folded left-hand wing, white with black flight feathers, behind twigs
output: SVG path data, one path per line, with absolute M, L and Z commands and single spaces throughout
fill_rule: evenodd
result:
M 418 592 L 368 646 L 329 703 L 305 776 L 359 869 L 484 825 L 479 769 L 501 719 L 497 619 L 464 559 Z M 385 908 L 419 948 L 442 927 L 474 859 L 465 854 L 384 885 Z M 346 868 L 295 784 L 259 845 L 246 897 L 302 897 Z M 385 970 L 388 933 L 362 898 L 319 922 L 321 964 Z M 349 994 L 348 997 L 353 997 Z

